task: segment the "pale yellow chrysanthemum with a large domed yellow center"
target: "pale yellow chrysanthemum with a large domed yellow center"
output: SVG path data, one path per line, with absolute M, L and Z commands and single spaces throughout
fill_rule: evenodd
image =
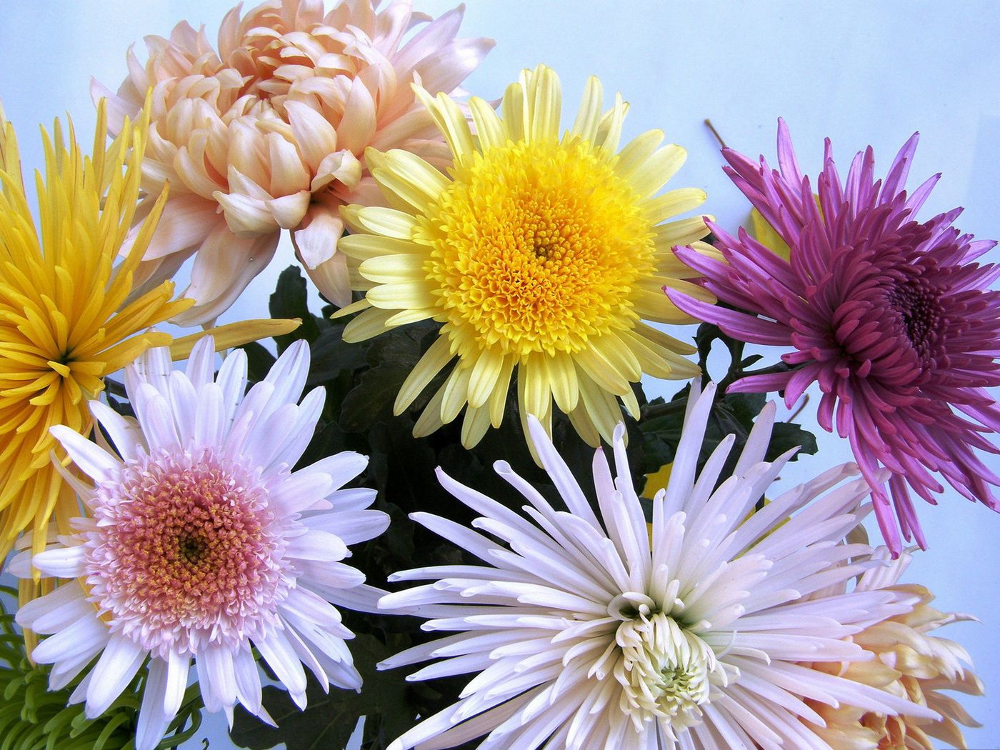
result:
M 703 217 L 661 223 L 705 199 L 702 190 L 656 193 L 684 163 L 684 149 L 644 133 L 620 152 L 628 109 L 619 95 L 602 114 L 591 78 L 573 127 L 560 136 L 559 79 L 524 71 L 504 94 L 502 116 L 472 98 L 475 135 L 459 105 L 418 92 L 444 134 L 454 166 L 441 174 L 413 154 L 367 152 L 392 208 L 350 206 L 341 240 L 362 311 L 344 331 L 361 341 L 433 319 L 440 338 L 407 377 L 397 414 L 444 368 L 451 371 L 417 421 L 426 435 L 465 408 L 462 443 L 500 425 L 516 369 L 522 420 L 544 425 L 552 403 L 590 444 L 610 442 L 621 399 L 645 373 L 690 378 L 688 346 L 644 321 L 690 323 L 662 287 L 712 301 L 683 281 L 697 276 L 671 248 L 699 243 Z

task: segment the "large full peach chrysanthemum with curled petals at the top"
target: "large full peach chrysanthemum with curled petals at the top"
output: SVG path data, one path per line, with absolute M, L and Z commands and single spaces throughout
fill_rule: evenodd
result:
M 178 24 L 169 39 L 147 37 L 149 60 L 129 52 L 129 76 L 112 103 L 111 130 L 153 90 L 146 183 L 171 198 L 142 272 L 172 276 L 192 254 L 188 297 L 178 319 L 202 323 L 225 311 L 270 262 L 282 229 L 320 291 L 350 301 L 336 253 L 346 203 L 380 203 L 367 175 L 368 146 L 400 148 L 444 167 L 444 148 L 411 83 L 450 93 L 493 46 L 456 39 L 460 6 L 426 23 L 412 3 L 270 0 L 242 18 L 226 14 L 213 49 L 204 29 Z M 146 208 L 152 204 L 147 204 Z

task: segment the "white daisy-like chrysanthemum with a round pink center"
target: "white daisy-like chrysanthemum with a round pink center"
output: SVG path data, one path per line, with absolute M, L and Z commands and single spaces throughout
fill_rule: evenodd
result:
M 347 545 L 385 530 L 369 489 L 340 489 L 367 458 L 339 453 L 292 471 L 325 393 L 298 403 L 309 370 L 299 341 L 244 396 L 247 361 L 234 351 L 213 379 L 214 342 L 186 372 L 153 349 L 126 371 L 137 420 L 99 402 L 94 417 L 117 453 L 65 427 L 52 433 L 93 487 L 73 480 L 88 518 L 76 533 L 11 565 L 16 575 L 74 579 L 17 614 L 47 635 L 32 653 L 52 664 L 50 687 L 97 659 L 73 693 L 99 716 L 144 668 L 137 750 L 155 747 L 176 715 L 194 659 L 205 707 L 232 721 L 239 702 L 270 720 L 251 645 L 301 708 L 309 667 L 324 687 L 358 690 L 334 604 L 374 608 L 384 593 L 342 560 Z M 68 475 L 67 475 L 68 476 Z M 147 661 L 148 658 L 148 661 Z M 145 665 L 145 667 L 144 667 Z

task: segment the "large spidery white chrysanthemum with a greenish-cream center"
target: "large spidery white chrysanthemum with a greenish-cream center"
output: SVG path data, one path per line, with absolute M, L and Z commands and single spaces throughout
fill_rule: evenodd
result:
M 614 440 L 617 476 L 601 450 L 594 460 L 596 513 L 537 420 L 532 437 L 567 510 L 503 461 L 497 472 L 527 500 L 524 515 L 439 473 L 481 514 L 472 525 L 483 533 L 427 513 L 414 520 L 485 564 L 393 576 L 430 583 L 389 594 L 380 608 L 418 606 L 433 618 L 425 630 L 455 632 L 381 666 L 437 658 L 409 679 L 475 676 L 457 703 L 406 732 L 393 750 L 454 747 L 482 735 L 484 749 L 829 748 L 807 701 L 937 716 L 797 663 L 872 659 L 849 636 L 918 600 L 906 591 L 837 589 L 884 564 L 867 544 L 843 541 L 870 510 L 862 505 L 863 480 L 842 483 L 857 473 L 853 464 L 753 513 L 794 453 L 763 460 L 773 404 L 758 417 L 733 476 L 718 483 L 729 436 L 696 477 L 715 388 L 700 396 L 698 389 L 696 382 L 670 483 L 652 501 L 651 533 L 622 427 Z

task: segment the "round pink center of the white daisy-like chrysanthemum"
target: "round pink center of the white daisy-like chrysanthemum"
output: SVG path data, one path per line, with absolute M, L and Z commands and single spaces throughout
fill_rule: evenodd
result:
M 95 499 L 88 584 L 137 641 L 194 652 L 273 622 L 284 545 L 255 473 L 211 449 L 161 451 Z

